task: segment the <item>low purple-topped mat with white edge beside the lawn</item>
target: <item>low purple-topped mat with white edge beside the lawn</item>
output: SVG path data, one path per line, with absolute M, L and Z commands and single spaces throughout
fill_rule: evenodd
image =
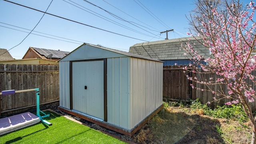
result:
M 21 128 L 25 128 L 27 126 L 31 126 L 40 121 L 41 120 L 40 118 L 38 118 L 38 116 L 30 112 L 25 112 L 22 114 L 17 114 L 17 115 L 6 117 L 6 118 L 1 118 L 0 119 L 0 135 L 15 131 L 15 130 L 19 130 Z

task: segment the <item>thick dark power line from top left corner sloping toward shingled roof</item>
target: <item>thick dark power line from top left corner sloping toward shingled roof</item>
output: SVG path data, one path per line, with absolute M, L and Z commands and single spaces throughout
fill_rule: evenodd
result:
M 23 6 L 23 7 L 25 7 L 25 8 L 29 8 L 29 9 L 32 9 L 32 10 L 36 10 L 36 11 L 38 11 L 38 12 L 42 12 L 41 10 L 37 10 L 37 9 L 34 9 L 34 8 L 30 8 L 30 7 L 24 6 L 24 5 L 22 5 L 22 4 L 17 4 L 17 3 L 15 3 L 15 2 L 11 2 L 11 1 L 8 1 L 8 0 L 4 0 L 4 1 L 10 2 L 10 3 L 13 3 L 13 4 L 16 4 L 16 5 L 19 5 L 19 6 Z M 123 34 L 118 34 L 118 33 L 116 33 L 116 32 L 111 32 L 111 31 L 108 31 L 108 30 L 104 30 L 104 29 L 102 29 L 102 28 L 97 28 L 97 27 L 95 27 L 95 26 L 90 26 L 90 25 L 88 25 L 88 24 L 83 24 L 83 23 L 81 23 L 81 22 L 76 22 L 76 21 L 74 21 L 74 20 L 70 20 L 70 19 L 68 19 L 68 18 L 63 18 L 63 17 L 61 17 L 61 16 L 56 16 L 56 15 L 54 15 L 54 14 L 50 14 L 50 13 L 47 13 L 47 12 L 44 12 L 44 13 L 45 13 L 45 14 L 49 14 L 49 15 L 51 15 L 51 16 L 58 17 L 58 18 L 62 18 L 62 19 L 64 19 L 64 20 L 68 20 L 68 21 L 71 21 L 71 22 L 75 22 L 75 23 L 78 23 L 78 24 L 82 24 L 82 25 L 84 25 L 84 26 L 89 26 L 89 27 L 91 27 L 91 28 L 96 28 L 96 29 L 98 29 L 98 30 L 103 30 L 103 31 L 105 31 L 105 32 L 110 32 L 110 33 L 112 33 L 112 34 L 117 34 L 117 35 L 124 36 L 124 37 L 127 37 L 127 38 L 132 38 L 132 39 L 136 39 L 136 40 L 141 40 L 141 39 L 138 39 L 138 38 L 133 38 L 133 37 L 130 37 L 130 36 L 125 36 L 125 35 L 123 35 Z M 146 41 L 146 40 L 141 40 L 141 41 L 148 42 L 148 41 Z

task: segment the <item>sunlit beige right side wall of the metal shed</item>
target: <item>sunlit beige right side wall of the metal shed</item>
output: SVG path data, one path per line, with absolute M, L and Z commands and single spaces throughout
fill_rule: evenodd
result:
M 163 64 L 130 58 L 130 129 L 162 105 Z

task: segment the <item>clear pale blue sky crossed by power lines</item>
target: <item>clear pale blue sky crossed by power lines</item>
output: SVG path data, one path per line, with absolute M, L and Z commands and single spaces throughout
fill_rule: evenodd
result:
M 10 1 L 41 11 L 45 11 L 51 2 L 51 0 Z M 21 59 L 29 47 L 71 52 L 72 50 L 80 46 L 83 42 L 89 44 L 100 44 L 105 47 L 128 51 L 130 46 L 137 43 L 164 40 L 164 38 L 166 38 L 166 34 L 164 33 L 160 36 L 160 32 L 170 29 L 174 29 L 174 31 L 168 32 L 169 39 L 185 37 L 186 32 L 188 32 L 189 28 L 188 20 L 186 19 L 185 15 L 188 16 L 190 11 L 194 8 L 192 0 L 87 1 L 91 2 L 96 6 L 99 6 L 104 10 L 107 10 L 108 12 L 115 14 L 123 20 L 129 21 L 130 23 L 124 22 L 123 20 L 120 20 L 120 18 L 116 18 L 107 13 L 106 11 L 96 6 L 93 6 L 92 4 L 89 4 L 84 0 L 53 0 L 47 12 L 70 20 L 74 20 L 76 22 L 80 22 L 132 38 L 98 30 L 96 28 L 84 26 L 75 22 L 70 22 L 68 20 L 57 18 L 48 14 L 45 14 L 40 23 L 36 26 L 44 13 L 18 6 L 4 0 L 0 0 L 0 48 L 9 50 L 10 48 L 16 46 L 28 35 L 28 33 L 26 32 L 30 32 L 30 30 L 32 30 L 34 26 L 36 26 L 36 28 L 34 29 L 34 31 L 36 32 L 32 32 L 32 34 L 30 34 L 19 46 L 16 46 L 9 51 L 12 57 L 16 59 Z M 250 0 L 244 1 L 250 2 Z M 157 16 L 157 18 L 160 19 L 158 20 L 160 22 L 150 16 L 150 14 L 148 14 L 136 2 L 142 7 L 143 5 L 146 6 L 146 8 L 144 7 L 144 9 L 150 10 L 150 12 L 152 12 L 155 16 Z M 86 12 L 85 10 L 88 12 Z M 120 10 L 122 10 L 126 14 Z M 104 16 L 104 19 L 107 19 L 108 21 L 99 18 L 98 16 L 95 16 L 93 14 L 90 14 L 89 12 L 95 15 L 100 14 L 101 16 L 98 16 Z M 128 16 L 127 14 L 130 16 Z M 122 25 L 126 28 L 113 24 L 112 22 L 118 22 L 118 25 Z M 18 26 L 20 28 L 15 26 Z M 28 30 L 24 30 L 22 28 L 26 28 Z M 22 30 L 25 32 L 20 32 L 17 30 Z M 51 38 L 46 38 L 34 34 L 39 34 Z M 49 36 L 46 34 L 50 34 L 53 36 Z M 58 38 L 55 36 L 62 38 Z M 66 40 L 63 38 L 67 38 L 71 40 L 66 40 L 69 42 L 64 42 L 52 38 L 61 40 Z M 140 40 L 136 40 L 133 38 Z

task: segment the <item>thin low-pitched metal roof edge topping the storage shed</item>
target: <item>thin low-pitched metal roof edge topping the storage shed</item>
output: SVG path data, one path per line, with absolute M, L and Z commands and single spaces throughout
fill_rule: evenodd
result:
M 121 51 L 121 50 L 114 50 L 112 48 L 105 48 L 105 47 L 102 47 L 102 46 L 96 46 L 96 45 L 93 45 L 93 44 L 86 44 L 86 43 L 82 44 L 81 46 L 83 46 L 83 45 L 88 45 L 88 46 L 93 46 L 93 47 L 96 47 L 96 48 L 101 48 L 103 50 L 108 50 L 108 51 L 111 51 L 111 52 L 115 52 L 115 53 L 118 53 L 118 54 L 123 54 L 125 56 L 130 56 L 130 57 L 134 57 L 134 58 L 142 58 L 142 59 L 146 59 L 146 60 L 154 60 L 154 61 L 162 62 L 162 61 L 156 60 L 154 58 L 149 58 L 149 57 L 141 56 L 141 55 L 138 55 L 138 54 L 132 54 L 132 53 L 124 52 L 124 51 Z M 78 48 L 80 48 L 81 46 L 79 46 Z M 76 48 L 75 50 L 77 50 L 78 48 Z M 75 50 L 73 50 L 72 52 L 74 52 Z M 66 56 L 69 56 L 70 54 L 72 54 L 72 52 L 70 52 Z M 65 58 L 66 56 L 64 56 L 63 58 Z M 61 60 L 62 59 L 60 59 L 59 61 L 61 61 Z

